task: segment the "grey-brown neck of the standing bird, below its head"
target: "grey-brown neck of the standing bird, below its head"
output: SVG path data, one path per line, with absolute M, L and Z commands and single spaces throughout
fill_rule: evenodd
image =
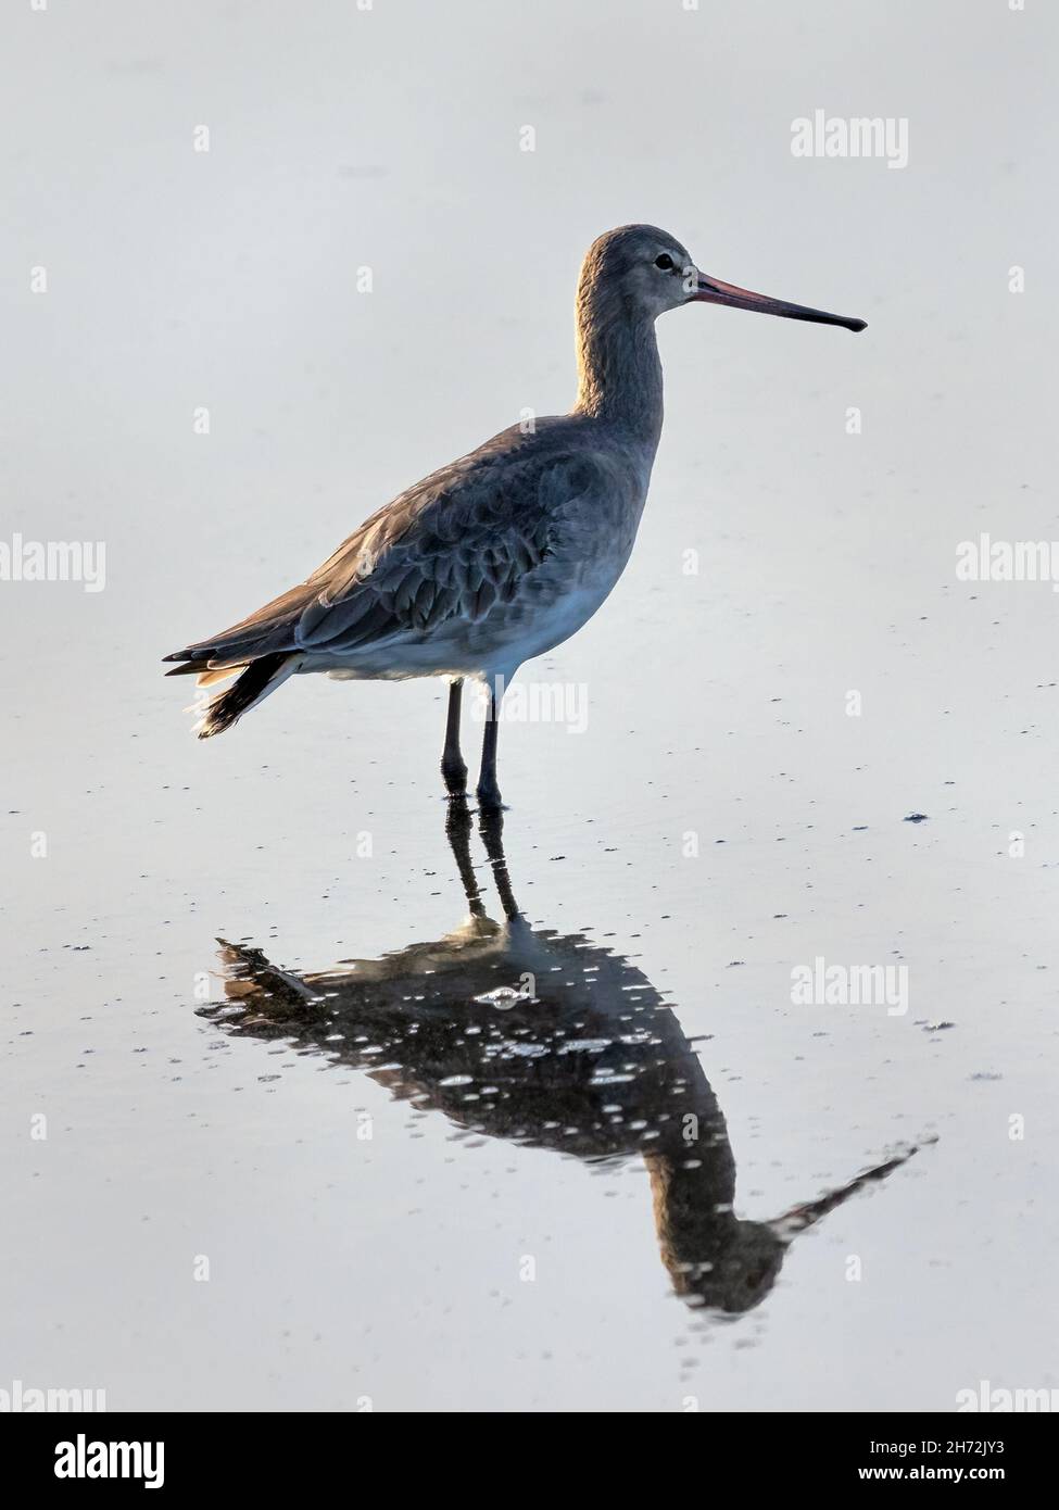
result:
M 577 294 L 577 374 L 574 414 L 618 423 L 651 448 L 659 444 L 662 362 L 654 320 L 598 285 Z

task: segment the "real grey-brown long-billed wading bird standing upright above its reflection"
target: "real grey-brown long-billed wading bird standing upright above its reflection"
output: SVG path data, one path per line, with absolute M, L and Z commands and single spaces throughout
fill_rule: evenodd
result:
M 518 667 L 585 625 L 633 550 L 662 435 L 654 322 L 690 304 L 863 331 L 864 320 L 699 272 L 653 225 L 589 248 L 576 299 L 577 399 L 521 421 L 372 513 L 305 581 L 204 640 L 174 651 L 171 676 L 231 683 L 199 704 L 199 738 L 224 734 L 290 676 L 449 681 L 441 776 L 467 791 L 459 746 L 464 681 L 485 689 L 479 808 L 502 806 L 497 735 Z M 234 678 L 234 681 L 231 681 Z

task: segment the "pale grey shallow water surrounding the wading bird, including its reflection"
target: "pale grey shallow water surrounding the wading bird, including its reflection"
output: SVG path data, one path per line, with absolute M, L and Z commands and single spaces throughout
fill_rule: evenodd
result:
M 1056 532 L 1054 23 L 585 6 L 556 59 L 557 6 L 515 47 L 461 0 L 471 57 L 444 9 L 5 23 L 50 266 L 3 293 L 11 530 L 107 581 L 0 583 L 2 1367 L 110 1409 L 1056 1388 L 1056 604 L 955 574 Z M 817 104 L 908 115 L 908 168 L 792 159 Z M 157 658 L 562 408 L 633 216 L 869 331 L 663 323 L 641 539 L 523 673 L 579 731 L 502 729 L 503 832 L 447 824 L 441 686 L 189 738 Z M 793 1001 L 816 959 L 908 1010 Z

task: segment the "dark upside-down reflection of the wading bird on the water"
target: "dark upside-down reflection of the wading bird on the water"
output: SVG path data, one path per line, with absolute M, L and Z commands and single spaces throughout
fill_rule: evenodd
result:
M 499 814 L 482 814 L 505 921 L 486 917 L 471 818 L 449 838 L 470 918 L 432 944 L 295 975 L 225 944 L 227 1031 L 286 1037 L 366 1069 L 394 1096 L 488 1137 L 591 1163 L 644 1158 L 662 1261 L 690 1305 L 749 1311 L 798 1232 L 882 1179 L 914 1148 L 772 1222 L 736 1216 L 725 1120 L 675 1013 L 621 954 L 580 933 L 532 929 L 511 889 Z

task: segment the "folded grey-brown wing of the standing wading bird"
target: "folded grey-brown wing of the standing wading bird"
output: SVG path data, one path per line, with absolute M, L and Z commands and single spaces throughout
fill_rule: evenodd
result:
M 346 652 L 511 602 L 601 485 L 591 453 L 479 451 L 379 509 L 299 587 L 172 660 Z

